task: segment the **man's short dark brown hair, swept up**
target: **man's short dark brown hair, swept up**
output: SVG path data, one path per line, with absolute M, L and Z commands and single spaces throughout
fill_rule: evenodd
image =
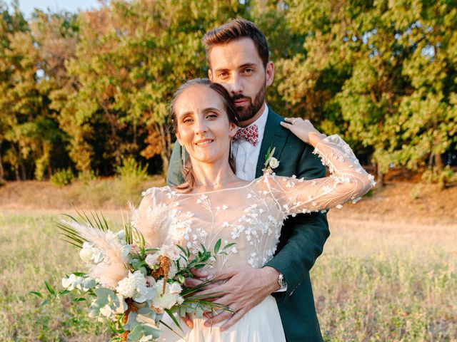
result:
M 224 45 L 241 38 L 252 39 L 254 45 L 256 46 L 258 56 L 260 56 L 263 62 L 263 68 L 266 68 L 266 64 L 268 63 L 268 43 L 266 43 L 265 35 L 251 21 L 240 17 L 206 32 L 203 36 L 201 41 L 204 43 L 206 58 L 208 59 L 209 65 L 211 66 L 211 61 L 209 60 L 211 48 L 216 45 Z

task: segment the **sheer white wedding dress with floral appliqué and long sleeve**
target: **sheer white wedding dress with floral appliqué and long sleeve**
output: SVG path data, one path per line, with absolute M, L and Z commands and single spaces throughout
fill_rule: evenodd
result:
M 193 253 L 201 249 L 201 244 L 214 247 L 218 239 L 222 239 L 223 247 L 236 242 L 226 249 L 228 255 L 218 257 L 208 270 L 210 274 L 224 271 L 227 266 L 262 267 L 273 258 L 286 216 L 356 202 L 374 184 L 373 177 L 338 135 L 323 139 L 314 152 L 329 167 L 330 177 L 299 180 L 263 175 L 242 187 L 196 194 L 153 187 L 144 192 L 134 222 L 150 225 L 146 237 L 149 242 L 186 245 Z M 204 321 L 195 318 L 192 330 L 182 323 L 184 340 L 164 327 L 159 341 L 286 341 L 273 296 L 266 297 L 227 331 L 219 330 L 222 323 L 207 328 Z M 171 318 L 166 323 L 174 326 Z

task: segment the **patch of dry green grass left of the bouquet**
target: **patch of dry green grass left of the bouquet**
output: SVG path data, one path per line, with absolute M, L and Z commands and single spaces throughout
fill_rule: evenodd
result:
M 108 341 L 84 304 L 55 301 L 43 309 L 29 291 L 44 280 L 61 289 L 61 277 L 81 270 L 77 250 L 59 239 L 51 212 L 0 211 L 0 341 Z

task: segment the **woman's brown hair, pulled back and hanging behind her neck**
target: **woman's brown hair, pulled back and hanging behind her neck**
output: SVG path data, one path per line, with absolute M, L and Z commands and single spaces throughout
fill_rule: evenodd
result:
M 189 80 L 186 83 L 184 83 L 181 87 L 176 90 L 176 93 L 174 93 L 173 98 L 171 98 L 170 102 L 170 118 L 171 122 L 173 123 L 173 133 L 176 134 L 178 132 L 178 120 L 176 120 L 176 113 L 174 111 L 174 105 L 176 104 L 176 101 L 178 100 L 179 96 L 184 93 L 184 90 L 192 88 L 194 86 L 206 86 L 221 95 L 222 102 L 224 103 L 224 109 L 226 110 L 226 115 L 227 118 L 229 118 L 230 123 L 234 123 L 235 125 L 238 125 L 238 115 L 236 112 L 235 105 L 231 102 L 231 98 L 229 95 L 229 92 L 221 86 L 219 83 L 212 83 L 209 78 L 194 78 L 193 80 Z M 184 147 L 181 146 L 181 150 L 184 149 Z M 194 175 L 194 170 L 192 168 L 192 162 L 190 160 L 189 154 L 185 154 L 186 157 L 184 158 L 183 161 L 183 168 L 182 168 L 182 173 L 184 176 L 184 183 L 181 185 L 178 185 L 176 187 L 176 190 L 180 190 L 182 192 L 191 192 L 194 187 L 196 186 L 196 178 Z M 229 165 L 231 170 L 233 172 L 236 172 L 236 164 L 235 164 L 235 159 L 231 155 L 231 151 L 229 151 Z

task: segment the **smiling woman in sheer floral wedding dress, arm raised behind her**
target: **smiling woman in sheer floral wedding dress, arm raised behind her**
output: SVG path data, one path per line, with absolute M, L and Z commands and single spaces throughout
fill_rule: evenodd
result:
M 273 258 L 288 215 L 336 207 L 356 200 L 373 186 L 373 177 L 361 167 L 351 148 L 338 135 L 326 137 L 308 120 L 286 118 L 283 128 L 315 148 L 329 167 L 330 177 L 301 180 L 266 173 L 252 182 L 236 177 L 231 139 L 236 134 L 236 108 L 223 86 L 208 79 L 184 83 L 171 101 L 174 133 L 183 156 L 185 182 L 178 187 L 152 187 L 136 212 L 137 222 L 149 222 L 148 234 L 159 244 L 181 244 L 192 253 L 214 246 L 217 240 L 236 242 L 209 269 L 216 275 L 227 266 L 260 268 Z M 157 208 L 162 208 L 157 211 Z M 151 213 L 158 212 L 161 217 Z M 151 216 L 152 215 L 152 216 Z M 151 224 L 169 222 L 169 224 Z M 164 328 L 159 341 L 286 341 L 276 301 L 267 296 L 226 331 L 222 324 L 205 326 L 194 318 L 184 324 L 184 340 Z M 171 323 L 171 318 L 166 323 Z

